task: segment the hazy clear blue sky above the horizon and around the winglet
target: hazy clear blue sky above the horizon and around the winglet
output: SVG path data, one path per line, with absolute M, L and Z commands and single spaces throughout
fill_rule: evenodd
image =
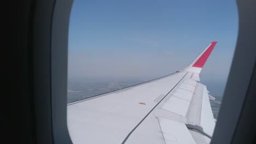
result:
M 201 82 L 222 95 L 238 33 L 235 1 L 80 1 L 69 22 L 68 76 L 150 80 L 218 41 Z

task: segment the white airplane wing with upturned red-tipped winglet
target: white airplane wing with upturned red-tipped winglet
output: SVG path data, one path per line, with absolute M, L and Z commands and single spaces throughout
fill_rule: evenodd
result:
M 216 119 L 199 74 L 216 43 L 182 71 L 69 103 L 73 143 L 210 143 Z

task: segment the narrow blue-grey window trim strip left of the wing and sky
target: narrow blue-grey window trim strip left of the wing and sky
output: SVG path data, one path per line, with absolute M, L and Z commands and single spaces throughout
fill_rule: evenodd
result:
M 72 143 L 67 128 L 68 26 L 72 0 L 56 1 L 51 31 L 51 104 L 54 143 Z

